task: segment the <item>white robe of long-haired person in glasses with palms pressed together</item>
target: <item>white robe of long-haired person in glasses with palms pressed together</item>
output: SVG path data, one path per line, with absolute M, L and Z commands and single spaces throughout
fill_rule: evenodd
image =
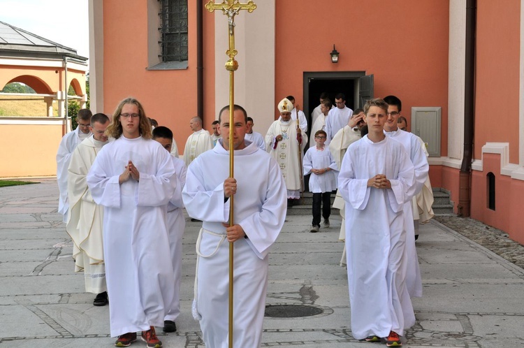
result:
M 140 172 L 119 184 L 128 161 Z M 170 154 L 154 140 L 121 136 L 105 145 L 87 184 L 104 206 L 103 246 L 109 294 L 110 333 L 163 326 L 173 301 L 175 277 L 170 259 L 167 205 L 175 192 Z

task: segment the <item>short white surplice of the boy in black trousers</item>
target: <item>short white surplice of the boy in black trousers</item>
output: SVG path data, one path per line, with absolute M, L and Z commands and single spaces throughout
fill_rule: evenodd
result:
M 312 169 L 331 168 L 321 175 L 311 173 Z M 304 156 L 304 175 L 311 173 L 310 192 L 323 193 L 337 189 L 338 167 L 331 156 L 328 147 L 322 151 L 315 147 L 310 147 Z

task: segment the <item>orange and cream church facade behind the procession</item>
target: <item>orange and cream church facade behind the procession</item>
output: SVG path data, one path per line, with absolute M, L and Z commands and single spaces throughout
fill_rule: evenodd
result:
M 432 186 L 450 192 L 456 213 L 524 243 L 518 219 L 524 196 L 524 0 L 255 3 L 253 13 L 242 10 L 235 17 L 235 103 L 255 119 L 256 131 L 267 131 L 278 101 L 288 95 L 306 115 L 321 92 L 332 98 L 343 92 L 350 108 L 371 96 L 398 96 L 408 129 L 428 143 Z M 149 117 L 173 130 L 181 153 L 191 117 L 203 117 L 210 129 L 228 103 L 228 24 L 221 11 L 209 13 L 204 5 L 90 0 L 92 109 L 112 113 L 120 100 L 135 96 Z M 472 163 L 461 183 L 470 151 L 464 145 L 465 57 L 472 5 Z

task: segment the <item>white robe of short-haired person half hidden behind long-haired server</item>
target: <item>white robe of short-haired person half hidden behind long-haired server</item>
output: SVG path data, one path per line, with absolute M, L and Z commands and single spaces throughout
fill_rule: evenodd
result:
M 173 293 L 173 302 L 166 309 L 165 320 L 175 321 L 180 315 L 180 284 L 182 281 L 182 236 L 186 220 L 184 218 L 184 202 L 182 202 L 182 189 L 186 183 L 187 168 L 182 159 L 172 157 L 175 175 L 172 180 L 177 182 L 175 194 L 169 200 L 168 204 L 168 238 L 169 249 L 171 252 L 171 261 L 173 261 L 173 273 L 175 274 L 175 291 Z

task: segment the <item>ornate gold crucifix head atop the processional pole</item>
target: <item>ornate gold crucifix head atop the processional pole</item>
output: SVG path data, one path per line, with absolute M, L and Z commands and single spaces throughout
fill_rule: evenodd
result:
M 222 13 L 228 16 L 229 50 L 226 51 L 226 55 L 228 55 L 229 60 L 226 62 L 226 70 L 235 71 L 238 69 L 238 61 L 235 61 L 235 55 L 238 53 L 235 50 L 235 15 L 238 15 L 240 10 L 247 10 L 247 12 L 252 13 L 256 9 L 256 5 L 253 1 L 240 3 L 239 0 L 224 0 L 222 3 L 210 1 L 205 4 L 205 8 L 210 12 L 222 10 Z

